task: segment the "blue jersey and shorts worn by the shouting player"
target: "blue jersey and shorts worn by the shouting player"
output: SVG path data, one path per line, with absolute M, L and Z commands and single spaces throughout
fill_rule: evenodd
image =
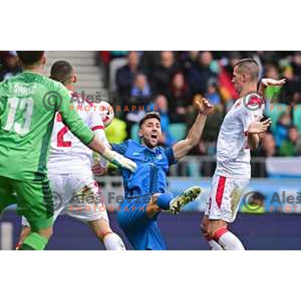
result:
M 141 197 L 167 192 L 167 172 L 176 163 L 172 147 L 152 149 L 129 139 L 112 148 L 137 164 L 134 173 L 121 169 L 125 201 L 117 215 L 119 225 L 136 250 L 165 250 L 157 217 L 147 217 L 147 202 Z

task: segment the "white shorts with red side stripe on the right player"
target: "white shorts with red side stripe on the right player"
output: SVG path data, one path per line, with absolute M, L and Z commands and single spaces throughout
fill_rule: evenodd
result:
M 227 223 L 233 222 L 236 218 L 241 197 L 248 183 L 249 179 L 214 175 L 205 215 L 210 220 L 223 220 Z

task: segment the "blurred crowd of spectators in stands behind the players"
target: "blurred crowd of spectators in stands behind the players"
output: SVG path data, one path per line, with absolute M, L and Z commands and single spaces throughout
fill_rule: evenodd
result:
M 207 97 L 215 110 L 208 116 L 202 141 L 194 154 L 209 156 L 216 152 L 223 117 L 238 97 L 231 83 L 233 66 L 239 59 L 252 57 L 260 64 L 260 77 L 287 79 L 283 88 L 266 90 L 266 115 L 272 118 L 273 126 L 262 135 L 261 145 L 253 155 L 301 155 L 301 52 L 104 51 L 100 57 L 107 78 L 111 79 L 107 82 L 108 89 L 130 101 L 138 94 L 140 102 L 142 98 L 148 99 L 158 106 L 163 119 L 164 145 L 185 136 L 194 120 L 193 99 Z M 141 112 L 136 114 L 136 119 L 132 112 L 120 116 L 127 122 L 128 137 L 135 137 L 131 128 L 141 118 Z

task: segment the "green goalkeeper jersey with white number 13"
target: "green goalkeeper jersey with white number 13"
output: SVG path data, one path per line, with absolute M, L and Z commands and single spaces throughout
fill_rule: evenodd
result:
M 33 72 L 0 83 L 0 176 L 32 180 L 47 175 L 56 111 L 83 143 L 92 141 L 93 132 L 70 109 L 70 99 L 61 83 Z

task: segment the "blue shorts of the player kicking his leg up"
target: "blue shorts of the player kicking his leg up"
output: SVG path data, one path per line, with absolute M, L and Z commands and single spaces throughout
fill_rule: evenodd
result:
M 139 199 L 125 200 L 117 212 L 118 223 L 135 250 L 167 250 L 157 224 L 159 212 L 149 218 L 147 205 Z

